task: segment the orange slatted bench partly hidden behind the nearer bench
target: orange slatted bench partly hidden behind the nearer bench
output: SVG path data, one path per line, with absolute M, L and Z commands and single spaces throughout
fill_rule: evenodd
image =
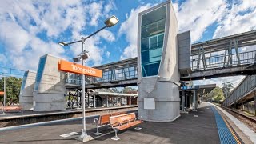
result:
M 115 116 L 115 115 L 120 115 L 120 114 L 126 114 L 126 111 L 122 112 L 116 112 L 116 113 L 111 113 L 111 114 L 102 114 L 99 116 L 99 118 L 94 118 L 94 123 L 96 125 L 96 133 L 94 135 L 100 135 L 102 133 L 98 132 L 98 128 L 102 126 L 108 126 L 110 125 L 110 117 Z

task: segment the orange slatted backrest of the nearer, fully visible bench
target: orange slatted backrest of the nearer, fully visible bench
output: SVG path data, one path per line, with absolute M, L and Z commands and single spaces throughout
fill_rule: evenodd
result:
M 129 121 L 133 121 L 136 118 L 135 113 L 130 114 L 122 114 L 110 117 L 110 125 L 111 126 L 118 126 L 119 123 L 127 123 Z

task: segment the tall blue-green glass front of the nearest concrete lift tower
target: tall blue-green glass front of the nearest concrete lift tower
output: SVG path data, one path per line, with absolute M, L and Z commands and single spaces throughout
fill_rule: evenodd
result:
M 142 15 L 142 76 L 158 75 L 166 22 L 166 6 Z

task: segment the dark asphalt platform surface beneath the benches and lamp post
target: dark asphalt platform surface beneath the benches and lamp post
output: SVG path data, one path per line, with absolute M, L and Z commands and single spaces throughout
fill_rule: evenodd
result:
M 88 134 L 95 132 L 93 118 L 87 118 Z M 174 122 L 143 122 L 142 130 L 130 128 L 118 132 L 121 139 L 113 141 L 114 130 L 100 128 L 101 136 L 86 143 L 220 143 L 214 113 L 208 103 L 202 103 L 197 112 L 182 114 Z M 82 143 L 74 138 L 81 134 L 81 120 L 60 122 L 46 126 L 27 127 L 18 130 L 0 130 L 0 143 Z M 78 134 L 63 138 L 60 135 Z

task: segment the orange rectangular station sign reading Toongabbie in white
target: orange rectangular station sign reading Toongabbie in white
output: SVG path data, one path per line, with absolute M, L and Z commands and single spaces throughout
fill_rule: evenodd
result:
M 85 74 L 93 77 L 102 78 L 102 70 L 94 69 L 87 66 L 82 66 L 77 63 L 60 60 L 58 62 L 58 70 L 66 71 L 74 74 Z

